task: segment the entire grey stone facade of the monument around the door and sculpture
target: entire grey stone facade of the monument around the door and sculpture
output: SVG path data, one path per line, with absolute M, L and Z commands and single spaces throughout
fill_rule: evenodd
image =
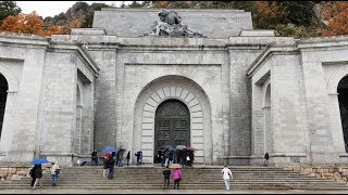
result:
M 273 166 L 348 162 L 337 99 L 347 37 L 274 37 L 237 10 L 176 10 L 207 38 L 142 36 L 158 11 L 104 9 L 71 35 L 1 34 L 0 161 L 72 165 L 114 145 L 152 164 L 157 107 L 178 100 L 197 164 L 261 165 L 265 152 Z

